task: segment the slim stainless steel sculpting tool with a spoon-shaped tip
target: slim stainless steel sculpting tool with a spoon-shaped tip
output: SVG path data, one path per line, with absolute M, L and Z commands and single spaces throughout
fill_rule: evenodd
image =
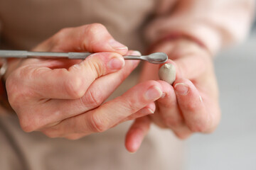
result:
M 29 52 L 23 50 L 0 50 L 0 58 L 42 58 L 42 59 L 80 59 L 83 60 L 90 52 Z M 151 55 L 126 55 L 125 60 L 144 60 L 152 64 L 161 64 L 168 60 L 168 56 L 164 52 L 156 52 Z

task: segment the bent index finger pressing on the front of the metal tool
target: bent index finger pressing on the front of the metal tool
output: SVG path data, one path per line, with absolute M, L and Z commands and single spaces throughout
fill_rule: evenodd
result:
M 32 66 L 33 67 L 33 66 Z M 100 52 L 67 69 L 25 67 L 26 86 L 40 98 L 77 99 L 85 95 L 95 79 L 124 67 L 124 58 L 117 53 Z

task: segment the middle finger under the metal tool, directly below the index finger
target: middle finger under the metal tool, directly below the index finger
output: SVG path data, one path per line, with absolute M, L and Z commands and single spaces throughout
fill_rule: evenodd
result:
M 139 55 L 138 52 L 129 52 L 129 55 Z M 43 105 L 41 113 L 47 116 L 51 120 L 50 122 L 42 123 L 42 125 L 48 125 L 66 118 L 85 113 L 93 108 L 100 106 L 117 87 L 126 79 L 129 74 L 137 67 L 139 61 L 127 60 L 124 68 L 119 72 L 108 74 L 105 77 L 96 79 L 89 89 L 85 92 L 82 98 L 76 100 L 50 100 Z M 111 82 L 111 83 L 109 83 Z M 48 108 L 48 109 L 46 109 Z M 42 122 L 42 120 L 41 120 Z

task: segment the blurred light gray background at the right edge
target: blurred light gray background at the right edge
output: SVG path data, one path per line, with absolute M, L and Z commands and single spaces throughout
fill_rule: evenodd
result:
M 256 169 L 256 30 L 215 60 L 222 120 L 188 140 L 186 170 Z

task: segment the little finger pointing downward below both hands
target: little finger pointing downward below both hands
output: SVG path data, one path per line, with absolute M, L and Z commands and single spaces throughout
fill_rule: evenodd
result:
M 134 121 L 131 128 L 129 128 L 126 138 L 125 138 L 125 147 L 129 152 L 137 152 L 144 137 L 149 132 L 151 120 L 148 116 L 138 118 Z

